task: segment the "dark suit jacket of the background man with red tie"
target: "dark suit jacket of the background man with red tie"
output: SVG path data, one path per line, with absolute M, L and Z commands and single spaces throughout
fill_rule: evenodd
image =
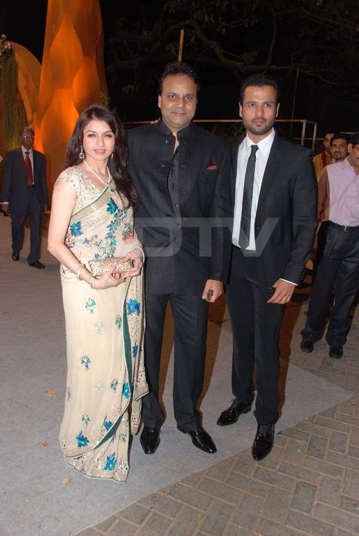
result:
M 43 209 L 47 203 L 46 159 L 44 154 L 33 150 L 35 192 Z M 1 202 L 8 202 L 9 209 L 25 210 L 28 203 L 27 170 L 21 148 L 12 149 L 5 155 L 4 184 Z

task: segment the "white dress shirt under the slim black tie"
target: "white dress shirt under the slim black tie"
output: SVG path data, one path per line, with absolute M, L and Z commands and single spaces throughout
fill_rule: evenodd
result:
M 251 209 L 251 227 L 249 235 L 249 244 L 246 250 L 256 251 L 255 241 L 255 219 L 257 213 L 258 199 L 260 187 L 263 181 L 264 171 L 267 165 L 269 153 L 273 144 L 275 131 L 272 129 L 270 135 L 266 136 L 260 142 L 253 142 L 248 134 L 244 138 L 241 145 L 238 147 L 238 159 L 237 159 L 237 176 L 236 176 L 236 193 L 234 203 L 234 219 L 233 219 L 233 233 L 232 242 L 239 247 L 238 239 L 240 237 L 241 219 L 242 219 L 242 202 L 243 202 L 243 190 L 244 190 L 244 177 L 247 167 L 248 159 L 251 154 L 251 146 L 257 145 L 258 151 L 256 152 L 256 167 L 255 167 L 255 181 L 253 183 L 253 197 L 252 197 L 252 209 Z

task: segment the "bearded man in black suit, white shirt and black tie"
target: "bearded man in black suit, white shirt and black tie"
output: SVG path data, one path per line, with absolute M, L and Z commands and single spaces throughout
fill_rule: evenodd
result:
M 246 134 L 234 144 L 234 211 L 227 303 L 233 329 L 231 406 L 217 423 L 231 425 L 251 409 L 256 368 L 256 460 L 271 451 L 279 406 L 278 338 L 289 302 L 311 250 L 317 226 L 317 181 L 311 151 L 278 136 L 278 87 L 263 75 L 241 88 Z

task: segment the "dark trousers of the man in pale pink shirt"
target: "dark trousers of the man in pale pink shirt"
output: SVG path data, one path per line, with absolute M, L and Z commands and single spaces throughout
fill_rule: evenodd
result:
M 350 308 L 359 285 L 359 227 L 345 231 L 342 226 L 331 223 L 328 228 L 324 254 L 311 289 L 308 316 L 302 331 L 304 339 L 315 343 L 323 337 L 334 284 L 334 307 L 326 341 L 330 346 L 343 346 L 349 330 Z

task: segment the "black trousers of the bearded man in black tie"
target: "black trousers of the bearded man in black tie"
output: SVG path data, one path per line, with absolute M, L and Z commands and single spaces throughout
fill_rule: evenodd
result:
M 278 340 L 285 306 L 267 303 L 259 282 L 257 258 L 244 257 L 236 247 L 226 296 L 233 333 L 233 394 L 251 403 L 255 367 L 256 419 L 274 423 L 279 406 Z

